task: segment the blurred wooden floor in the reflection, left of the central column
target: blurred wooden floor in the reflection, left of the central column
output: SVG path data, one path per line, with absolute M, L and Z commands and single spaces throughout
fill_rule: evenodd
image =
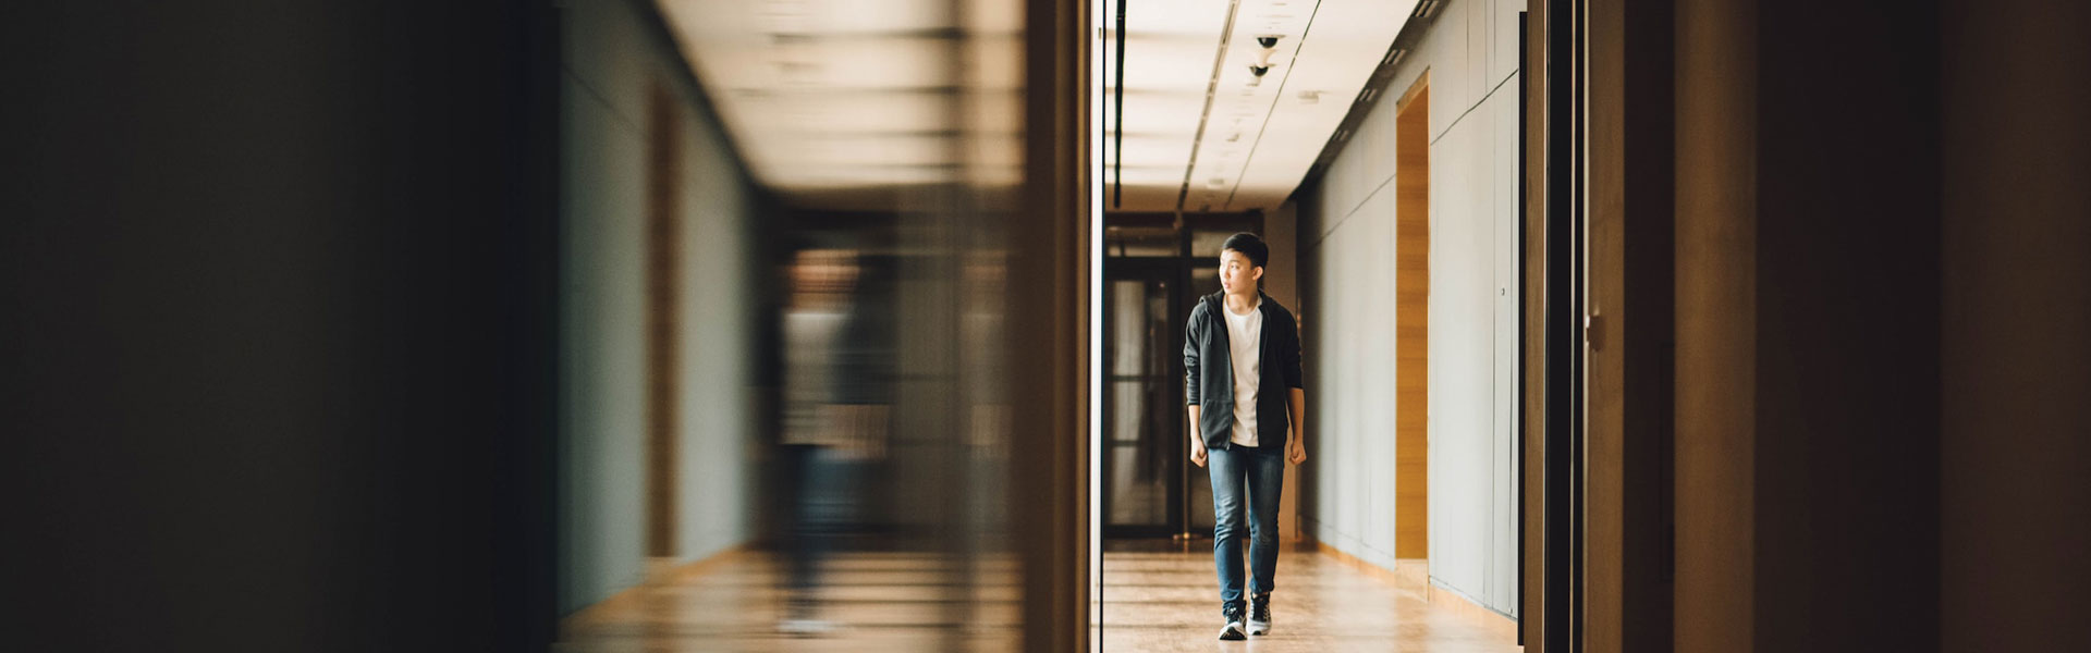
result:
M 732 553 L 569 617 L 554 651 L 1016 649 L 1016 565 L 945 561 L 922 553 L 836 555 L 820 578 L 820 624 L 801 628 L 782 620 L 782 561 Z

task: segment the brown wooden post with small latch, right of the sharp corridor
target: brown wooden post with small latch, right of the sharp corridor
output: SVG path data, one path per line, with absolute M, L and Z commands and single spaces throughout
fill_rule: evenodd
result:
M 1585 4 L 1583 647 L 1671 645 L 1671 0 Z

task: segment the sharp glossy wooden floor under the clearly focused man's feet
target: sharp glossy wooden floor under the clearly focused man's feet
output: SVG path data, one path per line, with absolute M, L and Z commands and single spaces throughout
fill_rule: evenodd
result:
M 1106 550 L 1102 651 L 1518 651 L 1474 617 L 1313 548 L 1278 557 L 1271 634 L 1223 643 L 1209 546 L 1194 540 Z

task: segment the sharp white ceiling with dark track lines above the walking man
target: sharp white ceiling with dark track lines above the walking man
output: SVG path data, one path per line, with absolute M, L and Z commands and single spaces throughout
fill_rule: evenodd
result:
M 1104 2 L 1104 207 L 1112 211 L 1276 209 L 1416 8 L 1416 0 L 1121 0 L 1121 121 L 1119 2 Z M 1265 48 L 1259 38 L 1271 36 L 1278 42 Z M 1250 65 L 1265 61 L 1259 80 Z

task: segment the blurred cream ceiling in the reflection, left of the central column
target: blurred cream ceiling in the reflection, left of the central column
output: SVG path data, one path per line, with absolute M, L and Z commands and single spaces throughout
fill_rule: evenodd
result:
M 1022 4 L 657 0 L 767 188 L 882 209 L 893 188 L 1020 170 Z

